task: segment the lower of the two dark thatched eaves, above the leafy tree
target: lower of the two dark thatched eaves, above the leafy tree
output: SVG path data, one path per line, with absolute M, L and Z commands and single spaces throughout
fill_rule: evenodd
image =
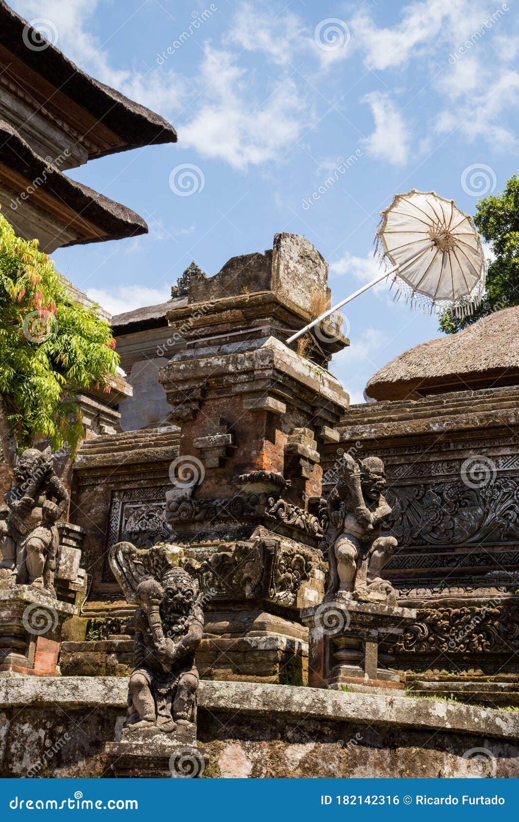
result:
M 105 197 L 49 167 L 7 122 L 0 120 L 0 181 L 14 193 L 3 202 L 7 219 L 16 214 L 16 196 L 42 211 L 58 215 L 78 237 L 69 245 L 116 240 L 146 234 L 146 222 L 126 205 Z M 25 184 L 24 184 L 25 183 Z M 65 244 L 65 243 L 63 243 Z

